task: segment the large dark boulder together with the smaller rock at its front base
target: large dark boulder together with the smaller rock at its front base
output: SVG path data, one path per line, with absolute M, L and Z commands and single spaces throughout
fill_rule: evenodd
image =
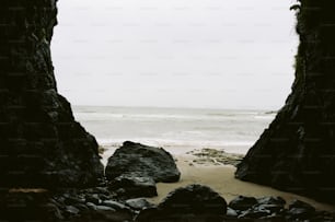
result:
M 131 141 L 124 142 L 108 159 L 105 173 L 109 189 L 128 198 L 157 196 L 155 183 L 181 178 L 169 152 Z

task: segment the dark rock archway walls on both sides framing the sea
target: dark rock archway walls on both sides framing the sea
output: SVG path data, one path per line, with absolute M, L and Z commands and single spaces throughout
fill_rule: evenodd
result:
M 236 177 L 334 201 L 335 3 L 301 0 L 296 8 L 300 46 L 292 93 Z M 57 93 L 49 48 L 56 14 L 56 0 L 1 3 L 1 187 L 78 187 L 103 176 L 94 137 Z

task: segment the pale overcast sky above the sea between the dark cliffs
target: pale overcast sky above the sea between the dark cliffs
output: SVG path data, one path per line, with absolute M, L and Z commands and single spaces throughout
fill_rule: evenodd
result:
M 65 0 L 51 43 L 73 105 L 280 108 L 294 0 Z

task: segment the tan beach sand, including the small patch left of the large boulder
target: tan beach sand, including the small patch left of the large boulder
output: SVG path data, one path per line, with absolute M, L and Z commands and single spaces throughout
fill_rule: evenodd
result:
M 101 145 L 102 147 L 102 145 Z M 112 149 L 111 149 L 112 148 Z M 103 147 L 102 162 L 104 165 L 107 159 L 114 153 L 117 147 Z M 164 148 L 165 149 L 165 148 Z M 335 206 L 319 202 L 308 197 L 299 196 L 291 192 L 281 191 L 268 186 L 242 182 L 234 177 L 235 166 L 244 156 L 243 154 L 228 153 L 223 149 L 184 149 L 169 147 L 165 149 L 170 152 L 181 171 L 181 179 L 177 183 L 158 183 L 158 196 L 146 198 L 149 202 L 158 205 L 170 191 L 176 188 L 185 187 L 190 184 L 206 185 L 216 190 L 228 202 L 233 198 L 242 196 L 261 197 L 282 197 L 287 205 L 294 199 L 305 201 L 317 210 L 335 212 Z M 177 152 L 174 152 L 177 151 Z

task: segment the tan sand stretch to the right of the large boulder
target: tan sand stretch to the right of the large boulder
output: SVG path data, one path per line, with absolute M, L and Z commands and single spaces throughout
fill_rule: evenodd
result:
M 216 164 L 212 161 L 198 162 L 198 156 L 193 154 L 174 155 L 176 164 L 182 173 L 181 180 L 173 184 L 158 184 L 158 197 L 148 198 L 149 201 L 158 203 L 173 189 L 189 184 L 207 185 L 218 191 L 227 201 L 239 195 L 264 197 L 280 196 L 289 203 L 299 199 L 311 203 L 317 210 L 335 211 L 335 206 L 317 202 L 313 199 L 290 192 L 276 190 L 270 187 L 261 186 L 234 178 L 235 167 L 232 165 Z

